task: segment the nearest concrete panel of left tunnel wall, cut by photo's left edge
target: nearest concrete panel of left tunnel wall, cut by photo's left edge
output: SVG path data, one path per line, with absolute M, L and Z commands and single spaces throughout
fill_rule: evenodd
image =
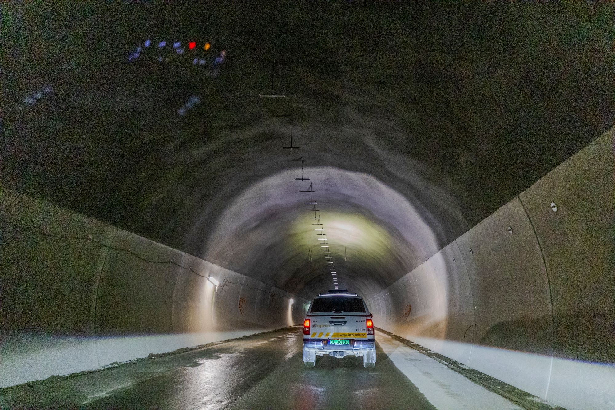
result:
M 111 244 L 117 228 L 4 189 L 0 217 L 0 387 L 97 367 L 94 307 L 107 249 L 94 241 Z

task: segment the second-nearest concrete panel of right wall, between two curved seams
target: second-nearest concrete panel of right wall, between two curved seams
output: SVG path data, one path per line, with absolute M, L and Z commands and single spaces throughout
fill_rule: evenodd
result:
M 551 364 L 549 286 L 538 242 L 520 201 L 501 207 L 456 242 L 470 267 L 476 307 L 477 346 L 469 365 L 544 396 Z M 542 356 L 507 355 L 504 350 Z

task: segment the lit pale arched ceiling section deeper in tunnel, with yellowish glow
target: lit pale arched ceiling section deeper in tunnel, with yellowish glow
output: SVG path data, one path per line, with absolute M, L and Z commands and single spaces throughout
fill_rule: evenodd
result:
M 438 251 L 438 220 L 375 177 L 335 167 L 305 167 L 304 175 L 309 181 L 296 181 L 295 167 L 237 194 L 208 235 L 205 259 L 311 299 L 332 288 L 330 278 L 314 280 L 328 270 L 313 223 L 322 223 L 340 286 L 366 297 Z M 301 192 L 309 184 L 315 192 Z M 308 211 L 310 201 L 319 211 Z

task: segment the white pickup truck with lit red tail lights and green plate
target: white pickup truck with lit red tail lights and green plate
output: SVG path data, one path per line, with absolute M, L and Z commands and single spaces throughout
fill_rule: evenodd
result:
M 319 294 L 303 321 L 303 363 L 315 366 L 316 355 L 363 356 L 363 366 L 376 364 L 374 323 L 363 299 L 355 293 Z

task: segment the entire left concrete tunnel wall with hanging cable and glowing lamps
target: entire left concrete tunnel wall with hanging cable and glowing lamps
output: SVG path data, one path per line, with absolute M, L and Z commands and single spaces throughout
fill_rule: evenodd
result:
M 0 387 L 284 328 L 308 307 L 15 191 L 0 192 L 0 216 Z

